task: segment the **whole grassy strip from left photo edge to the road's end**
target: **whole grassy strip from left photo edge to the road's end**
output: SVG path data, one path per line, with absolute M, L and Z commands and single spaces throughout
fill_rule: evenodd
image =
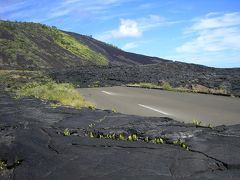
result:
M 51 101 L 52 107 L 70 106 L 95 109 L 70 83 L 57 83 L 40 71 L 0 70 L 0 86 L 16 97 L 35 97 Z

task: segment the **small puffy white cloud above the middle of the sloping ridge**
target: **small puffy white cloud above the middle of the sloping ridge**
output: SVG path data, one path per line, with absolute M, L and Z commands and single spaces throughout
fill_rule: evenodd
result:
M 142 30 L 136 21 L 131 19 L 121 19 L 120 27 L 117 30 L 113 30 L 112 37 L 122 38 L 122 37 L 140 37 L 142 35 Z

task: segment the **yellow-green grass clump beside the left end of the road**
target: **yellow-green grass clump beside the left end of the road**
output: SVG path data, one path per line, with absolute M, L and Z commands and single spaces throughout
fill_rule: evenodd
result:
M 63 106 L 95 109 L 95 105 L 86 101 L 69 83 L 31 82 L 16 90 L 17 97 L 32 96 L 46 101 L 57 101 Z

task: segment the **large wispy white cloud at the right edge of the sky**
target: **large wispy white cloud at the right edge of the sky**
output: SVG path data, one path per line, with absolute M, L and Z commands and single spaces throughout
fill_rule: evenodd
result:
M 187 30 L 193 37 L 176 48 L 178 53 L 240 50 L 240 13 L 207 14 Z

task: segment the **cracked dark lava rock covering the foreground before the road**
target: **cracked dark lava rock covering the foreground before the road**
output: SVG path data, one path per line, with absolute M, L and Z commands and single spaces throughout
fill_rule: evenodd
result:
M 138 141 L 120 140 L 120 134 L 135 134 Z M 157 137 L 164 144 L 150 141 Z M 0 93 L 1 180 L 239 179 L 239 153 L 240 125 L 207 128 L 169 118 L 51 108 Z

